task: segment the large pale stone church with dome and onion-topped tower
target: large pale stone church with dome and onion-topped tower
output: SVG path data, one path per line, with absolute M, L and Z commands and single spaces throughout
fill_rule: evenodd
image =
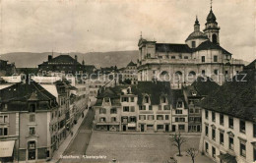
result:
M 138 81 L 170 81 L 172 88 L 210 77 L 219 84 L 243 70 L 243 61 L 232 58 L 221 46 L 220 27 L 212 5 L 203 31 L 198 18 L 184 44 L 139 39 Z

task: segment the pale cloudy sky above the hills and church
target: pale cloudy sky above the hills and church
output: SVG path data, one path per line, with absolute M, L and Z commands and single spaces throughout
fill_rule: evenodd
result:
M 137 50 L 144 38 L 184 43 L 210 0 L 0 0 L 0 54 Z M 256 0 L 213 0 L 221 46 L 256 58 Z

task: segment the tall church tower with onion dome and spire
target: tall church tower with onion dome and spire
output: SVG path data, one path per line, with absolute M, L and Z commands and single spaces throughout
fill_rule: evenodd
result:
M 215 14 L 212 10 L 212 0 L 211 0 L 211 11 L 207 17 L 206 28 L 204 29 L 205 34 L 208 38 L 215 44 L 220 44 L 220 27 L 218 27 L 218 23 L 216 22 Z

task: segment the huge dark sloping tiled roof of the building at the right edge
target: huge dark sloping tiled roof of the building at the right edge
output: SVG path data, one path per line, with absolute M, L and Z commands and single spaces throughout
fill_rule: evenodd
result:
M 201 106 L 233 117 L 256 122 L 256 70 L 243 71 L 226 81 Z

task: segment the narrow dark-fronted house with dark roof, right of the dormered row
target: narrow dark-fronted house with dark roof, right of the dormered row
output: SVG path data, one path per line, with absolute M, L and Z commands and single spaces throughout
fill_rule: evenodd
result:
M 198 77 L 191 85 L 182 86 L 185 101 L 188 105 L 188 132 L 201 133 L 202 113 L 196 106 L 198 102 L 207 97 L 212 91 L 219 88 L 219 84 L 210 78 Z

